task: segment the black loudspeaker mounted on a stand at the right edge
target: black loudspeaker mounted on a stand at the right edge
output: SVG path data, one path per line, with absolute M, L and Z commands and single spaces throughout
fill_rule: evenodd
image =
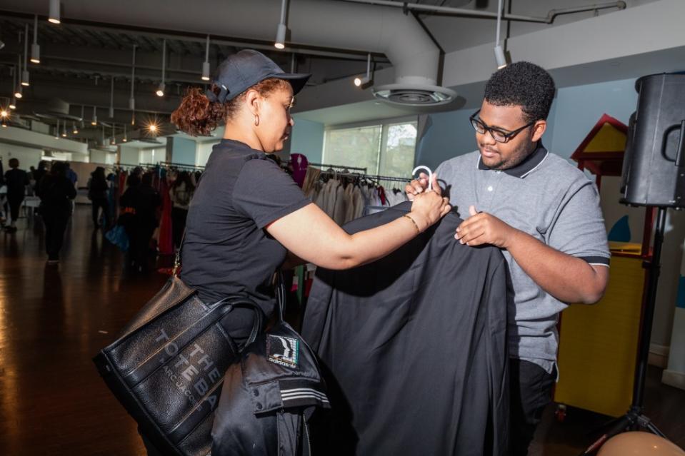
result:
M 635 90 L 621 203 L 685 208 L 685 75 L 643 76 Z

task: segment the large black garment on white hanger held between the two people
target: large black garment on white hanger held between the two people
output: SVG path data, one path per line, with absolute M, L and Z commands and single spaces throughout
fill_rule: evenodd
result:
M 381 260 L 317 270 L 302 336 L 328 371 L 332 409 L 312 423 L 314 454 L 506 454 L 506 263 L 497 248 L 461 245 L 459 223 L 450 213 Z

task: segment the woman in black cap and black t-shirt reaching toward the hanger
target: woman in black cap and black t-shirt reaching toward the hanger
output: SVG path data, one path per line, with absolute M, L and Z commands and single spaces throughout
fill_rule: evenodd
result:
M 219 65 L 206 93 L 190 89 L 171 115 L 194 136 L 226 123 L 195 191 L 182 247 L 181 279 L 205 303 L 247 295 L 271 315 L 271 278 L 286 258 L 353 268 L 387 255 L 449 212 L 447 198 L 429 191 L 414 200 L 408 216 L 349 235 L 311 203 L 266 159 L 283 148 L 294 124 L 293 96 L 309 76 L 286 74 L 259 52 L 240 51 Z M 227 329 L 240 343 L 249 336 L 251 311 L 230 315 Z

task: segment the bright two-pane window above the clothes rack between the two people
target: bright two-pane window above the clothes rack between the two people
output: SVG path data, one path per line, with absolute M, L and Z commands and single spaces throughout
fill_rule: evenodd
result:
M 368 174 L 409 177 L 414 168 L 416 121 L 331 128 L 324 135 L 324 163 L 366 168 Z

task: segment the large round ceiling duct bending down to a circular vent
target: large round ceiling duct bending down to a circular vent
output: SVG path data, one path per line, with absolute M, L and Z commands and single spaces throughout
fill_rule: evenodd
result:
M 39 0 L 5 3 L 7 9 L 31 14 L 44 9 L 44 1 Z M 401 9 L 341 1 L 289 3 L 289 43 L 382 53 L 388 57 L 395 71 L 394 83 L 374 90 L 380 99 L 405 106 L 431 106 L 447 103 L 456 96 L 454 91 L 437 86 L 439 49 L 411 14 L 404 14 Z M 266 42 L 274 39 L 274 26 L 281 16 L 281 2 L 273 0 L 196 0 L 193 8 L 187 7 L 186 0 L 119 0 L 116 9 L 103 8 L 100 2 L 90 0 L 61 0 L 61 4 L 69 19 L 203 36 L 230 33 Z M 259 21 L 254 21 L 256 15 Z

